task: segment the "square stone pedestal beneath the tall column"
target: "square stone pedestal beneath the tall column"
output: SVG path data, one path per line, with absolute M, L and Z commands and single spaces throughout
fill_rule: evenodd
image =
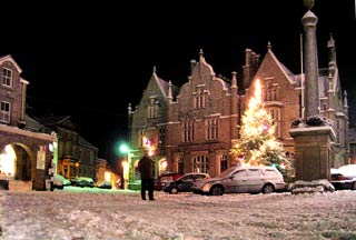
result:
M 296 180 L 329 180 L 335 141 L 332 127 L 295 128 L 289 134 L 295 141 Z

